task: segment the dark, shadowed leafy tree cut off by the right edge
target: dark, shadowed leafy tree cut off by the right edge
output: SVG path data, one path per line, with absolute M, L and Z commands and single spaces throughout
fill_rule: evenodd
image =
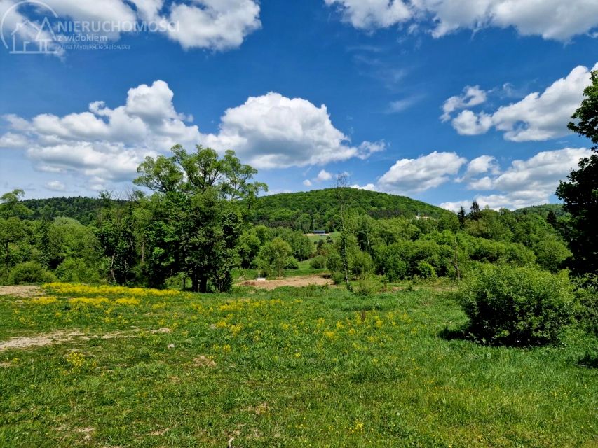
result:
M 598 71 L 583 92 L 583 102 L 573 114 L 569 129 L 592 141 L 592 155 L 579 161 L 578 169 L 561 182 L 557 196 L 571 214 L 567 239 L 573 252 L 573 269 L 578 274 L 598 273 Z

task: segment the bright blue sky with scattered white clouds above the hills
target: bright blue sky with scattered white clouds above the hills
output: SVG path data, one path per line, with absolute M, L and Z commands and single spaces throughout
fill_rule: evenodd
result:
M 598 62 L 598 3 L 43 3 L 0 0 L 2 191 L 122 191 L 145 155 L 181 143 L 237 151 L 271 193 L 348 172 L 451 209 L 517 208 L 555 202 L 588 153 L 566 123 Z M 178 25 L 95 33 L 108 49 L 67 48 L 57 32 L 54 54 L 11 54 L 16 24 L 44 17 Z

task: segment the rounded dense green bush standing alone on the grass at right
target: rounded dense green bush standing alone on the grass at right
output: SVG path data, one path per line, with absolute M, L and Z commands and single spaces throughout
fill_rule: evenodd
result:
M 576 309 L 569 279 L 534 267 L 487 267 L 457 295 L 470 334 L 491 344 L 556 342 Z

